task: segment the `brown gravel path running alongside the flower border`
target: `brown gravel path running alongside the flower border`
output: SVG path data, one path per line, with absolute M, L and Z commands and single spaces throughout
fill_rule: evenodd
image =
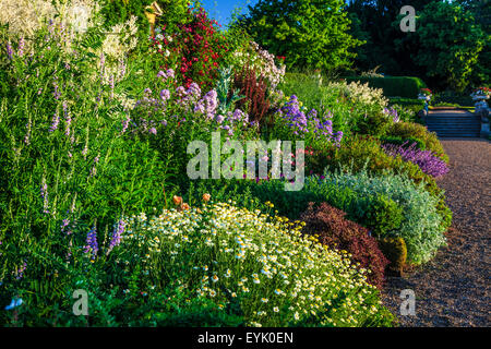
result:
M 384 303 L 400 326 L 491 326 L 489 243 L 491 233 L 491 142 L 442 139 L 451 171 L 438 180 L 454 213 L 448 245 L 430 263 L 390 277 Z M 416 294 L 416 315 L 399 315 L 403 289 Z

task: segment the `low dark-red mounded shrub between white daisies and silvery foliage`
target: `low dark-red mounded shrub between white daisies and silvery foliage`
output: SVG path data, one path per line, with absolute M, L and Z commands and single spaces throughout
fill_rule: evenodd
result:
M 346 219 L 345 216 L 345 212 L 326 203 L 318 206 L 309 203 L 309 207 L 300 217 L 307 224 L 302 232 L 318 236 L 322 244 L 350 253 L 351 261 L 371 270 L 367 276 L 368 282 L 382 289 L 388 260 L 368 229 Z

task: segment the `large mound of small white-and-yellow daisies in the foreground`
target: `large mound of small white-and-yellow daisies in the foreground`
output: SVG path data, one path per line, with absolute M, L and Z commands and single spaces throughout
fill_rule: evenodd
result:
M 141 249 L 152 280 L 226 310 L 238 302 L 250 326 L 362 326 L 391 322 L 378 290 L 346 252 L 300 233 L 302 224 L 233 202 L 128 218 L 118 249 Z M 133 248 L 132 248 L 133 246 Z

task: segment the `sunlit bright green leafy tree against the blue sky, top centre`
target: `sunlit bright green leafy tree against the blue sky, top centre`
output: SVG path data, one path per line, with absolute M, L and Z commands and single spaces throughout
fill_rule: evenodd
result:
M 286 57 L 287 67 L 333 70 L 350 64 L 360 41 L 347 31 L 342 0 L 260 0 L 238 25 L 270 52 Z

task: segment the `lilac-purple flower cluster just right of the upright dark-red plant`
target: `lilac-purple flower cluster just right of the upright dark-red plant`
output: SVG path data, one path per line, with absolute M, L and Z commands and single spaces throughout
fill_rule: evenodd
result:
M 301 110 L 300 103 L 296 95 L 279 109 L 279 115 L 287 122 L 295 135 L 304 137 L 311 133 L 316 140 L 326 140 L 339 144 L 343 139 L 343 132 L 333 133 L 333 115 L 327 111 L 323 118 L 318 117 L 315 109 L 310 110 L 307 115 Z

